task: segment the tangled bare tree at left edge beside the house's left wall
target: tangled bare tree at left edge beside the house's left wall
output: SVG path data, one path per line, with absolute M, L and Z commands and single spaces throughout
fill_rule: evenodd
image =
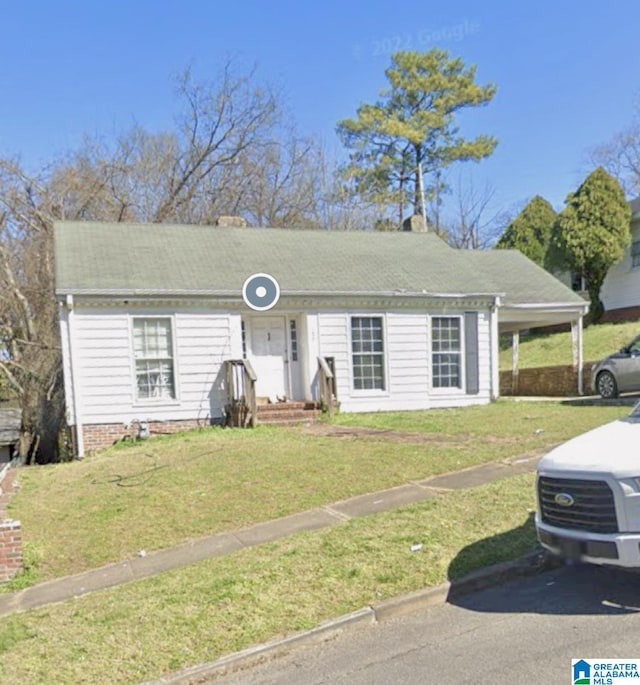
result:
M 58 457 L 64 413 L 46 181 L 0 161 L 0 373 L 22 409 L 23 463 Z

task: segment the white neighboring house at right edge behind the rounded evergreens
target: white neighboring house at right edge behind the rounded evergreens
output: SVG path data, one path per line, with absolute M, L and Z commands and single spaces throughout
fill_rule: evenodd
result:
M 600 291 L 605 321 L 640 319 L 640 197 L 630 204 L 631 245 L 609 269 Z

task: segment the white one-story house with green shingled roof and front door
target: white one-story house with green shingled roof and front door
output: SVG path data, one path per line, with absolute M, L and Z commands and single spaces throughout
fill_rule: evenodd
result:
M 429 409 L 499 395 L 499 332 L 572 322 L 587 303 L 518 251 L 428 232 L 162 224 L 55 226 L 67 420 L 79 455 L 128 434 L 222 422 L 229 360 L 272 401 Z M 243 301 L 268 273 L 280 299 Z

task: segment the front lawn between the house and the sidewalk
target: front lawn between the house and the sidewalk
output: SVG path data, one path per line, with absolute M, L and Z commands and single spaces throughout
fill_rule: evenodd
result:
M 416 435 L 207 429 L 111 448 L 81 462 L 25 468 L 9 513 L 22 523 L 28 570 L 3 589 L 544 450 L 626 411 L 504 400 L 466 409 L 345 414 L 335 423 Z

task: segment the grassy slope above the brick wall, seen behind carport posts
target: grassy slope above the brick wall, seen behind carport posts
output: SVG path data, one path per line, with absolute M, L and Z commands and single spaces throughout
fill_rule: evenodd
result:
M 583 331 L 583 357 L 585 361 L 597 361 L 640 333 L 640 323 L 598 324 Z M 511 368 L 511 336 L 505 336 L 500 345 L 500 369 Z M 520 336 L 518 366 L 521 369 L 534 366 L 559 366 L 571 364 L 571 333 L 530 333 Z

